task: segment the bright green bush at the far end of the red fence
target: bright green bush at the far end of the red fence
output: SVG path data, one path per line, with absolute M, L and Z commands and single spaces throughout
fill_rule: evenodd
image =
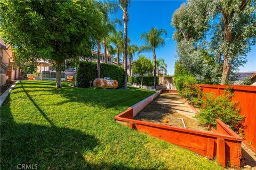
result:
M 180 93 L 183 88 L 188 85 L 196 84 L 196 79 L 190 74 L 183 74 L 174 77 L 174 84 L 177 88 L 177 91 Z

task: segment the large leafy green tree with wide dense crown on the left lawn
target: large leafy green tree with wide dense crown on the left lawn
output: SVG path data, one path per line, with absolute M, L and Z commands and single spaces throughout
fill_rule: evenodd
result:
M 56 86 L 66 60 L 91 56 L 102 37 L 102 13 L 94 1 L 0 2 L 1 37 L 17 51 L 26 47 L 54 61 Z

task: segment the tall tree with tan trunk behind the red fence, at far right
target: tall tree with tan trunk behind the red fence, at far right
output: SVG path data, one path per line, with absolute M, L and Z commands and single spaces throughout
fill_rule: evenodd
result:
M 213 2 L 215 3 L 215 2 Z M 226 84 L 230 76 L 232 63 L 246 56 L 251 46 L 256 43 L 256 8 L 255 1 L 219 1 L 214 4 L 216 23 L 215 41 L 219 47 L 220 58 L 223 56 L 221 84 Z M 235 60 L 235 61 L 234 61 Z M 242 64 L 242 63 L 241 63 Z

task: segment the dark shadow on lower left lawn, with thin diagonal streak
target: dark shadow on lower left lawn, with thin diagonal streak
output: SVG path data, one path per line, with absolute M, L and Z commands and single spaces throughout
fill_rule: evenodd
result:
M 38 169 L 131 169 L 103 160 L 102 164 L 88 163 L 83 155 L 97 155 L 98 140 L 77 129 L 55 126 L 23 85 L 20 88 L 51 126 L 14 122 L 9 96 L 1 107 L 2 169 L 17 169 L 18 164 L 37 164 Z

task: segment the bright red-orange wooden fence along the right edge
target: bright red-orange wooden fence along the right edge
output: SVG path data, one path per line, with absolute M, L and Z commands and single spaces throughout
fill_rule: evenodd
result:
M 241 107 L 241 115 L 245 116 L 244 129 L 245 143 L 256 152 L 256 86 L 245 85 L 199 85 L 205 93 L 214 92 L 223 94 L 225 88 L 230 87 L 234 91 L 232 101 L 238 101 Z

